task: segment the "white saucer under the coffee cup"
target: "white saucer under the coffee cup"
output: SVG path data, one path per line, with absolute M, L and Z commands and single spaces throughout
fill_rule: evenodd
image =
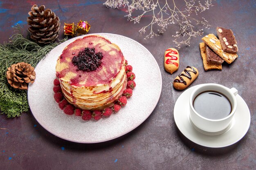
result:
M 189 119 L 189 96 L 197 86 L 193 86 L 184 91 L 175 103 L 173 113 L 174 120 L 180 132 L 194 143 L 210 148 L 230 146 L 242 139 L 249 129 L 251 115 L 247 104 L 240 95 L 236 95 L 236 113 L 231 122 L 231 126 L 225 133 L 220 135 L 206 135 L 193 127 Z

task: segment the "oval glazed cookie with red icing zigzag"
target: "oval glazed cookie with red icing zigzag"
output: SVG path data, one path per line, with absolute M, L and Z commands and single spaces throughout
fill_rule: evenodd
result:
M 167 72 L 173 73 L 179 68 L 179 52 L 176 49 L 167 49 L 164 53 L 164 68 Z

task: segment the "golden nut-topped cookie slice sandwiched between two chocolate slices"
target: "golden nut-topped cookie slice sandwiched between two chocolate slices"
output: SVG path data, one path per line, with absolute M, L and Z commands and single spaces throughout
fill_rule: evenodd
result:
M 213 34 L 206 35 L 202 40 L 228 64 L 234 62 L 238 57 L 237 54 L 224 52 L 220 45 L 220 40 Z

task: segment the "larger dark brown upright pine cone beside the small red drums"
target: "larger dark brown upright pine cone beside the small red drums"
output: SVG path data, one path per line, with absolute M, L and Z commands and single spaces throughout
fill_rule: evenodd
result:
M 45 6 L 38 7 L 36 4 L 31 7 L 28 13 L 27 23 L 30 25 L 30 38 L 38 43 L 48 44 L 58 38 L 60 32 L 60 20 L 50 9 Z

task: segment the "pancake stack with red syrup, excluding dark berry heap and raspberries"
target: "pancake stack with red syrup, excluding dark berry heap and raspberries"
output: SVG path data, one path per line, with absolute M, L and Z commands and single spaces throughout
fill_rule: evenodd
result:
M 78 70 L 72 58 L 85 47 L 103 53 L 101 66 L 95 71 Z M 124 55 L 116 44 L 99 35 L 77 39 L 65 47 L 58 57 L 56 75 L 65 99 L 87 110 L 110 107 L 126 88 Z

